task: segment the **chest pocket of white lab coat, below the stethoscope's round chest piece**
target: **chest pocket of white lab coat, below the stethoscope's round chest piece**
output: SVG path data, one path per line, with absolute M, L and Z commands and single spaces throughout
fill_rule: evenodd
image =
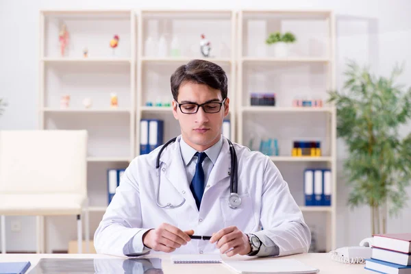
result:
M 253 199 L 249 193 L 240 194 L 241 205 L 238 208 L 230 208 L 228 197 L 220 198 L 221 212 L 225 227 L 235 225 L 242 232 L 251 232 L 256 226 Z

